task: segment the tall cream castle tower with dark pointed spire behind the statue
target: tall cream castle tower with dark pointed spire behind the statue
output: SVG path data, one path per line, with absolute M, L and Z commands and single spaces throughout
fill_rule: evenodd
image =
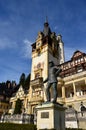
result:
M 64 47 L 62 37 L 51 32 L 49 23 L 44 23 L 42 32 L 38 32 L 35 43 L 32 44 L 32 67 L 30 81 L 29 105 L 31 113 L 34 107 L 46 100 L 42 80 L 48 77 L 48 63 L 53 61 L 55 65 L 64 62 Z

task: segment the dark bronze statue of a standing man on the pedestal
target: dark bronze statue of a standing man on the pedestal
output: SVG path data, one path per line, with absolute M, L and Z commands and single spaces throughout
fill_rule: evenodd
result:
M 59 76 L 59 73 L 62 70 L 60 68 L 56 68 L 53 61 L 49 62 L 49 75 L 48 78 L 44 80 L 43 83 L 48 82 L 48 85 L 46 87 L 46 102 L 51 102 L 51 94 L 50 94 L 50 88 L 52 86 L 53 88 L 53 103 L 56 103 L 57 100 L 57 77 Z

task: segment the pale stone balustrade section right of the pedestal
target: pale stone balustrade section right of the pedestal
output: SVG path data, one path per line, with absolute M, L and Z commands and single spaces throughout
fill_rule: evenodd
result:
M 66 112 L 65 113 L 65 126 L 66 128 L 86 128 L 86 111 Z

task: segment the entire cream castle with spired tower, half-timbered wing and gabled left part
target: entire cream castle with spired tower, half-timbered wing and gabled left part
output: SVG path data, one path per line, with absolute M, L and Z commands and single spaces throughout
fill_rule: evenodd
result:
M 13 113 L 18 98 L 22 100 L 22 110 L 27 114 L 34 114 L 35 107 L 46 101 L 43 80 L 48 77 L 50 60 L 62 69 L 58 77 L 57 102 L 77 111 L 80 111 L 81 102 L 86 105 L 86 54 L 76 50 L 69 61 L 65 62 L 64 57 L 62 36 L 52 32 L 46 21 L 43 31 L 38 32 L 32 44 L 30 89 L 26 92 L 22 86 L 19 87 L 10 98 L 9 113 Z

